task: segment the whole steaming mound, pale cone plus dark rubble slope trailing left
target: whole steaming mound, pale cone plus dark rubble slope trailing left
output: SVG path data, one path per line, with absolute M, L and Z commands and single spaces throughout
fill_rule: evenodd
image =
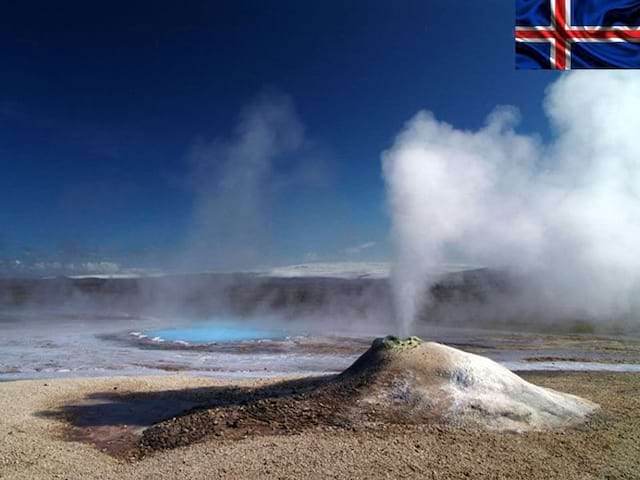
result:
M 141 452 L 208 437 L 291 434 L 308 428 L 448 425 L 542 430 L 579 424 L 598 406 L 538 387 L 498 363 L 417 337 L 379 338 L 342 374 L 283 383 L 270 395 L 189 412 L 144 431 Z

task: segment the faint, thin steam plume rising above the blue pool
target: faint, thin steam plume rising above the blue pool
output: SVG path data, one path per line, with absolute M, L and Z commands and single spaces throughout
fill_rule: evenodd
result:
M 274 162 L 300 152 L 304 143 L 291 99 L 267 94 L 242 111 L 232 138 L 192 149 L 196 198 L 188 267 L 245 268 L 264 259 Z

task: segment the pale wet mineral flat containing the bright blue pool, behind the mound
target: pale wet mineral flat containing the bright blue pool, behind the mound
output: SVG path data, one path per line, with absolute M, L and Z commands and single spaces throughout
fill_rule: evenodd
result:
M 374 337 L 386 333 L 341 333 L 335 323 L 323 328 L 318 322 L 233 317 L 186 322 L 127 313 L 0 311 L 0 381 L 322 375 L 342 371 Z M 442 327 L 412 333 L 485 355 L 513 370 L 640 371 L 640 338 Z

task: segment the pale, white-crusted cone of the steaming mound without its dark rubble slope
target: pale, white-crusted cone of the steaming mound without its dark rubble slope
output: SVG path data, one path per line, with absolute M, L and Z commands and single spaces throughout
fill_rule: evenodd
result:
M 596 404 L 538 387 L 498 363 L 417 337 L 386 337 L 337 378 L 355 388 L 353 415 L 529 430 L 580 423 Z

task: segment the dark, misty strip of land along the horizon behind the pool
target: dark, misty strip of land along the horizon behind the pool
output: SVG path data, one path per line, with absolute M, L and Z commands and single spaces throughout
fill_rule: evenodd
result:
M 546 308 L 525 310 L 520 299 L 531 282 L 504 271 L 441 274 L 424 292 L 410 333 L 428 338 L 431 327 L 520 332 L 638 333 L 633 322 L 557 316 Z M 239 324 L 292 332 L 364 336 L 400 334 L 391 283 L 386 277 L 271 277 L 254 274 L 189 274 L 142 278 L 0 280 L 5 320 L 43 323 L 56 318 L 106 322 L 120 328 L 193 325 L 233 318 Z M 541 315 L 537 315 L 540 313 Z M 14 315 L 16 314 L 16 315 Z M 118 320 L 117 324 L 113 323 Z

